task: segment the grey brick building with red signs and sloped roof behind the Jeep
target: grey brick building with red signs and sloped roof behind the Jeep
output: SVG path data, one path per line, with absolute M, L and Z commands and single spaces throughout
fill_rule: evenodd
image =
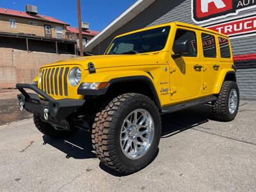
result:
M 138 0 L 95 36 L 85 50 L 103 54 L 116 35 L 173 21 L 230 36 L 241 99 L 256 99 L 256 1 Z

